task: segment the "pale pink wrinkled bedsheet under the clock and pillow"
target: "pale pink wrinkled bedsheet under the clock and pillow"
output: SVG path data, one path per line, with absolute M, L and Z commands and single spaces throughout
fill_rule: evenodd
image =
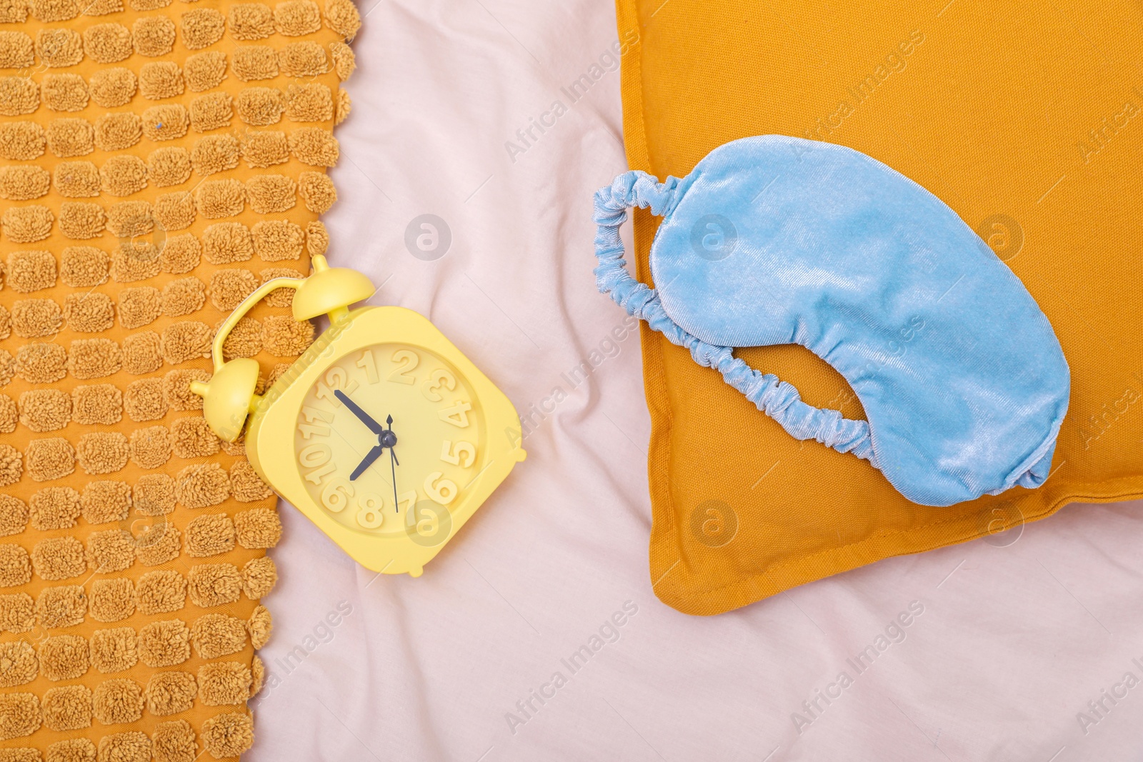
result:
M 419 579 L 283 506 L 248 760 L 1143 759 L 1136 504 L 718 617 L 660 603 L 638 334 L 591 276 L 591 194 L 625 169 L 613 7 L 361 10 L 331 259 L 481 366 L 529 456 Z M 426 214 L 439 258 L 406 247 Z

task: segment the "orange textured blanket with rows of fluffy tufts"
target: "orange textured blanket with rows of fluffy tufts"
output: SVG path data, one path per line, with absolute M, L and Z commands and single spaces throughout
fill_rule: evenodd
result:
M 274 497 L 189 391 L 309 271 L 350 0 L 0 2 L 0 762 L 250 747 Z M 225 345 L 313 338 L 270 295 Z

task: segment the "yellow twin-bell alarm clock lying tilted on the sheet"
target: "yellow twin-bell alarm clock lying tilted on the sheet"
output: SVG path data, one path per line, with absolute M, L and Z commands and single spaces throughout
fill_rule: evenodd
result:
M 525 458 L 515 409 L 437 328 L 369 298 L 363 274 L 312 259 L 309 278 L 255 289 L 215 336 L 214 376 L 194 382 L 210 428 L 275 492 L 374 571 L 421 576 Z M 223 360 L 223 343 L 264 296 L 295 289 L 294 319 L 329 328 L 262 395 L 258 363 Z M 247 417 L 249 423 L 247 425 Z

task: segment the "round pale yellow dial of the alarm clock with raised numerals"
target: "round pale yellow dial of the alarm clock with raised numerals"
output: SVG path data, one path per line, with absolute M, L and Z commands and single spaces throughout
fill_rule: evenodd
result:
M 306 392 L 294 452 L 314 503 L 335 521 L 425 546 L 451 531 L 449 506 L 485 468 L 478 399 L 445 359 L 377 344 L 331 362 Z

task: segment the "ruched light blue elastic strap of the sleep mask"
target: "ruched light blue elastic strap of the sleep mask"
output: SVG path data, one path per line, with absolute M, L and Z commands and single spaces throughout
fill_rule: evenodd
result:
M 791 436 L 814 439 L 839 452 L 853 452 L 880 467 L 873 455 L 869 424 L 845 418 L 837 410 L 823 410 L 801 401 L 798 390 L 778 380 L 774 374 L 761 374 L 734 356 L 728 346 L 708 344 L 679 327 L 660 303 L 655 289 L 647 288 L 626 270 L 620 226 L 626 220 L 628 207 L 650 208 L 662 217 L 673 207 L 679 179 L 657 182 L 647 173 L 633 170 L 617 176 L 609 186 L 596 192 L 593 219 L 596 233 L 596 286 L 628 314 L 646 320 L 672 344 L 690 351 L 701 366 L 714 368 L 727 384 L 746 395 L 759 410 L 778 422 Z

